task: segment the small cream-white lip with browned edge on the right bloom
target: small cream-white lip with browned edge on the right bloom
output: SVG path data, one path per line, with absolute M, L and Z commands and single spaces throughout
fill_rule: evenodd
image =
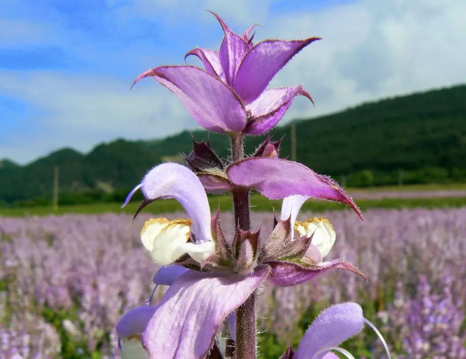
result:
M 314 233 L 311 243 L 319 249 L 322 258 L 329 254 L 335 243 L 335 229 L 326 218 L 314 217 L 306 222 L 296 222 L 295 230 L 300 236 L 310 237 Z

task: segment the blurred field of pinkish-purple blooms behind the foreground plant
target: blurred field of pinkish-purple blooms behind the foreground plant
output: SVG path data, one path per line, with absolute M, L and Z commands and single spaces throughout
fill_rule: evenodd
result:
M 329 259 L 345 256 L 369 283 L 330 271 L 292 288 L 261 286 L 263 357 L 279 357 L 322 309 L 349 300 L 362 305 L 396 357 L 466 358 L 466 208 L 364 214 L 361 222 L 346 210 L 322 213 L 337 232 Z M 176 217 L 185 214 L 169 216 Z M 139 239 L 148 218 L 134 225 L 126 214 L 0 218 L 0 358 L 118 357 L 115 324 L 149 298 L 157 271 Z M 224 227 L 230 221 L 223 215 Z M 266 237 L 273 214 L 255 213 L 253 221 Z M 382 357 L 369 330 L 346 347 Z

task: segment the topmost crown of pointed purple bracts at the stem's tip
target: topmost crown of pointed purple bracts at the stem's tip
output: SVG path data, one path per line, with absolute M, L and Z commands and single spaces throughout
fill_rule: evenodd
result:
M 205 69 L 160 66 L 140 75 L 135 83 L 152 77 L 174 92 L 201 126 L 228 134 L 264 134 L 282 119 L 294 97 L 313 101 L 301 85 L 266 87 L 295 54 L 320 38 L 265 40 L 254 45 L 250 35 L 254 26 L 241 36 L 212 14 L 225 33 L 220 50 L 196 48 L 186 54 L 199 57 Z

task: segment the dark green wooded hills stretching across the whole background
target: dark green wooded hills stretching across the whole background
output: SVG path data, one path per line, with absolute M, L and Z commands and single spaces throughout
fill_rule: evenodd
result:
M 343 185 L 466 181 L 466 85 L 365 103 L 336 114 L 298 120 L 297 161 Z M 193 131 L 207 139 L 206 131 Z M 290 155 L 290 125 L 270 133 L 285 135 L 281 157 Z M 228 156 L 228 138 L 210 134 L 212 147 Z M 248 137 L 248 152 L 263 140 Z M 0 201 L 50 197 L 53 168 L 60 166 L 60 191 L 126 190 L 163 160 L 179 160 L 192 147 L 191 132 L 153 141 L 117 140 L 83 155 L 63 149 L 26 166 L 0 162 Z

